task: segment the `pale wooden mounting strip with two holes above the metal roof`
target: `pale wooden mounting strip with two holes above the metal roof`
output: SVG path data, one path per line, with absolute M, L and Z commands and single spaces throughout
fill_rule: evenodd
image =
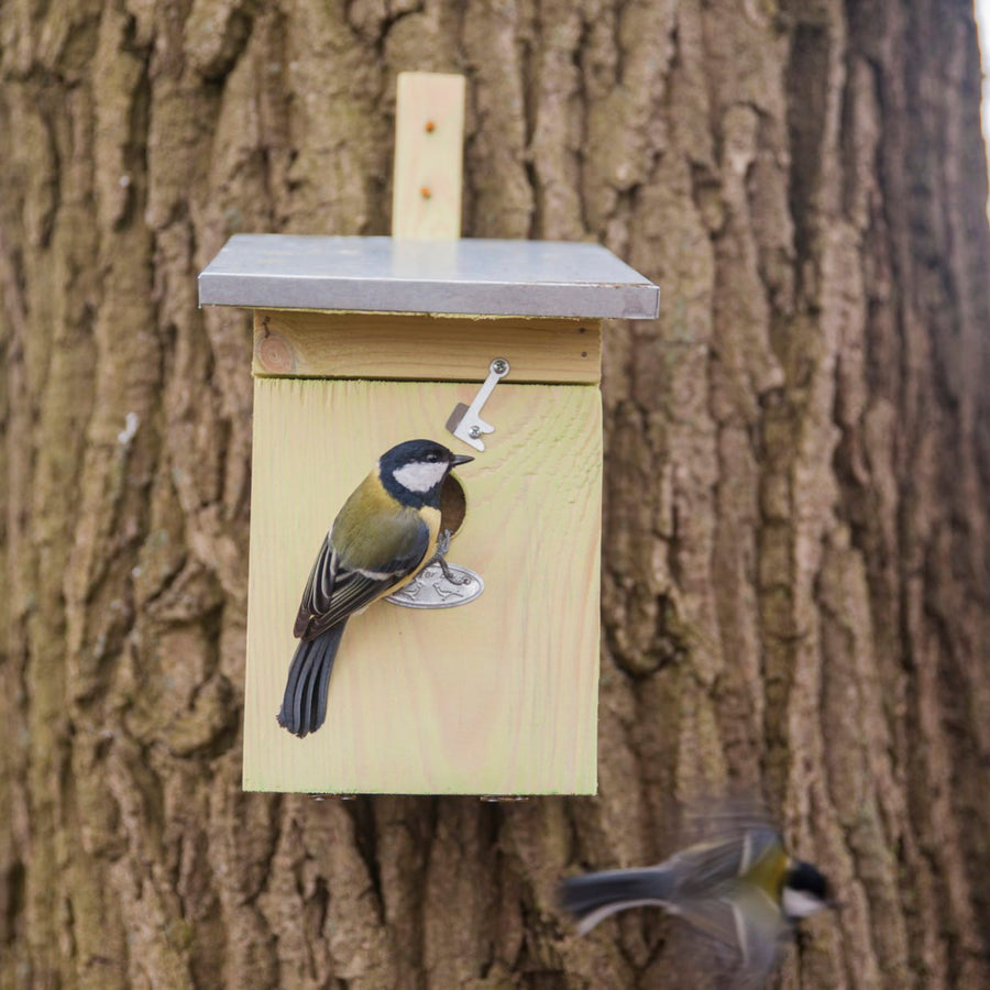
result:
M 396 95 L 392 235 L 461 235 L 464 77 L 399 73 Z

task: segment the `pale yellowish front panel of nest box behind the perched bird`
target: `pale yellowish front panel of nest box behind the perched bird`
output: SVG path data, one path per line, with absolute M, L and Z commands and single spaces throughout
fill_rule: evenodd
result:
M 593 793 L 596 788 L 601 397 L 499 385 L 488 449 L 460 472 L 450 559 L 465 606 L 378 603 L 344 634 L 327 724 L 275 713 L 293 617 L 332 518 L 377 455 L 443 430 L 471 384 L 255 382 L 244 787 L 343 793 Z

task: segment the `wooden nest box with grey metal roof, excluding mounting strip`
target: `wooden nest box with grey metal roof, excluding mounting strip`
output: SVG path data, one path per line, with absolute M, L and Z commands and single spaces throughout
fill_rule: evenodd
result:
M 659 289 L 592 244 L 250 234 L 199 297 L 254 310 L 244 788 L 594 793 L 601 321 L 652 319 Z M 475 410 L 494 432 L 458 439 L 448 421 L 496 359 Z M 414 438 L 475 457 L 448 560 L 484 590 L 352 618 L 326 724 L 296 738 L 276 712 L 309 569 L 377 458 Z

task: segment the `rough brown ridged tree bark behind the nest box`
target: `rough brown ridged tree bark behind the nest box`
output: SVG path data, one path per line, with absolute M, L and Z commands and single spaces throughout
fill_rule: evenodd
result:
M 240 790 L 235 231 L 384 233 L 396 73 L 464 231 L 601 240 L 601 794 Z M 845 911 L 788 987 L 990 986 L 990 238 L 969 0 L 0 4 L 0 985 L 673 987 L 561 873 L 762 790 Z

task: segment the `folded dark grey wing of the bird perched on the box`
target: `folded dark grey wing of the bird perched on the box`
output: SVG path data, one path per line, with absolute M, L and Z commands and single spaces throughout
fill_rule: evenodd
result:
M 386 594 L 416 571 L 430 547 L 429 528 L 417 520 L 415 526 L 404 527 L 399 539 L 393 540 L 389 560 L 374 569 L 359 568 L 348 565 L 331 542 L 331 536 L 328 534 L 323 540 L 302 592 L 293 629 L 299 639 L 314 639 Z

